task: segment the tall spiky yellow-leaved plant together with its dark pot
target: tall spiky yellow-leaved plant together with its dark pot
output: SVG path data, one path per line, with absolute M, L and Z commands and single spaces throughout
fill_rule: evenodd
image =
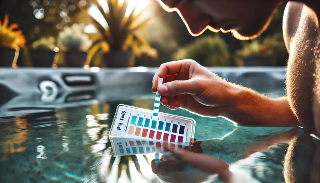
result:
M 143 11 L 136 14 L 136 7 L 133 8 L 129 16 L 125 15 L 128 2 L 128 0 L 123 0 L 123 2 L 107 0 L 109 11 L 104 12 L 98 1 L 93 0 L 108 23 L 107 29 L 92 18 L 82 6 L 78 5 L 101 34 L 101 38 L 92 43 L 91 50 L 98 50 L 108 43 L 109 52 L 104 54 L 107 67 L 128 67 L 130 61 L 134 59 L 134 55 L 140 54 L 139 47 L 149 46 L 147 41 L 139 34 L 141 30 L 147 28 L 149 19 L 141 20 L 140 16 Z

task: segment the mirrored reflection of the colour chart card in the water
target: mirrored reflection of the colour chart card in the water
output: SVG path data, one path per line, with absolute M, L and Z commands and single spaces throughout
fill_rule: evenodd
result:
M 139 140 L 132 138 L 110 138 L 114 155 L 135 155 L 148 153 L 172 154 L 162 144 L 154 140 Z M 177 145 L 175 145 L 177 146 Z M 180 146 L 185 148 L 185 146 Z

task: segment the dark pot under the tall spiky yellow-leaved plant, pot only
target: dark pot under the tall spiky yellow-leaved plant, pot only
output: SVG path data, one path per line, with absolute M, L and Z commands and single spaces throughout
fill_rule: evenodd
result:
M 134 58 L 132 52 L 120 50 L 105 53 L 103 57 L 107 67 L 129 67 L 130 61 Z

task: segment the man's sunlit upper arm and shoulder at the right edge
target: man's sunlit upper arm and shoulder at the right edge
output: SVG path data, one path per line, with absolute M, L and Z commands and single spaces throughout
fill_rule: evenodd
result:
M 320 108 L 314 104 L 320 101 L 320 31 L 317 15 L 310 7 L 289 1 L 285 8 L 283 34 L 289 53 L 286 84 L 291 109 L 302 126 L 320 131 L 320 121 L 315 116 Z

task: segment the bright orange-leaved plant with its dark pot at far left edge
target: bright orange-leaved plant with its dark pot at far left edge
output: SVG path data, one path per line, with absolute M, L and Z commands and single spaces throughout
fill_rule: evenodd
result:
M 21 30 L 16 30 L 19 25 L 10 24 L 9 16 L 4 16 L 4 21 L 0 20 L 0 66 L 12 67 L 18 60 L 20 48 L 24 48 L 26 39 Z

